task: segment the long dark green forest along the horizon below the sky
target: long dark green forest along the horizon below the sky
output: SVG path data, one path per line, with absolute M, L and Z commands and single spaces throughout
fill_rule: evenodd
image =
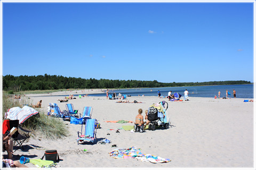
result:
M 61 75 L 37 75 L 37 76 L 3 76 L 3 90 L 54 90 L 54 89 L 101 89 L 101 88 L 154 88 L 154 87 L 181 87 L 181 86 L 213 86 L 229 84 L 250 84 L 250 81 L 209 81 L 209 82 L 170 82 L 163 83 L 140 80 L 108 80 L 108 79 L 82 79 L 67 78 Z

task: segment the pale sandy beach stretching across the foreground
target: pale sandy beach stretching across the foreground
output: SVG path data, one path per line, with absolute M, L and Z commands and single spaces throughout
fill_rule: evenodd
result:
M 95 92 L 95 91 L 94 91 Z M 63 94 L 64 92 L 62 92 Z M 88 92 L 85 92 L 87 94 Z M 71 92 L 70 92 L 71 94 Z M 67 103 L 59 103 L 63 97 L 26 95 L 33 104 L 42 100 L 42 108 L 47 113 L 49 103 L 57 103 L 61 111 Z M 59 95 L 59 94 L 57 94 Z M 65 95 L 65 94 L 63 94 Z M 67 96 L 69 93 L 67 94 Z M 24 98 L 23 98 L 24 99 Z M 253 168 L 253 103 L 244 99 L 193 98 L 189 101 L 168 101 L 157 96 L 127 97 L 129 101 L 142 103 L 116 103 L 119 100 L 107 100 L 106 97 L 82 97 L 71 99 L 68 103 L 82 113 L 84 106 L 92 106 L 92 118 L 96 118 L 101 128 L 97 129 L 98 141 L 107 138 L 111 143 L 84 143 L 77 145 L 77 131 L 81 125 L 70 124 L 69 136 L 64 139 L 47 140 L 42 137 L 30 138 L 23 143 L 25 150 L 18 149 L 14 155 L 38 159 L 45 150 L 56 149 L 60 156 L 58 168 Z M 146 130 L 144 133 L 132 133 L 123 129 L 123 125 L 134 123 L 109 123 L 105 121 L 135 121 L 138 109 L 146 109 L 154 103 L 165 100 L 169 104 L 167 115 L 171 120 L 169 129 Z M 109 133 L 109 135 L 107 135 Z M 138 159 L 114 159 L 109 156 L 112 145 L 117 148 L 140 148 L 143 154 L 151 154 L 171 159 L 168 163 L 153 164 Z M 84 151 L 86 149 L 87 151 Z M 7 152 L 3 152 L 7 155 Z M 30 168 L 35 165 L 26 164 Z

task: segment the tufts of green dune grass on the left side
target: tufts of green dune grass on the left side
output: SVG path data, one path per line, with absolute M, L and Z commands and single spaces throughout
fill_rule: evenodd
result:
M 31 101 L 22 99 L 13 99 L 12 96 L 3 95 L 3 107 L 2 107 L 2 119 L 4 119 L 4 113 L 7 112 L 9 108 L 20 107 L 23 105 L 29 105 Z M 47 116 L 43 113 L 41 108 L 35 108 L 39 113 L 29 117 L 22 126 L 25 129 L 31 130 L 33 137 L 38 135 L 47 139 L 62 139 L 68 136 L 68 127 L 65 125 L 63 120 L 56 117 Z

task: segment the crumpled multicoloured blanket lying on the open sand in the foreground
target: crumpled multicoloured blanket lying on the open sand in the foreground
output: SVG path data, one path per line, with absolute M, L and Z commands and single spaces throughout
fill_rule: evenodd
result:
M 159 156 L 154 156 L 150 154 L 142 154 L 140 149 L 136 147 L 131 148 L 121 148 L 114 149 L 109 153 L 109 156 L 118 159 L 118 158 L 137 158 L 140 159 L 141 162 L 150 162 L 150 163 L 167 163 L 170 162 L 170 159 L 164 159 Z

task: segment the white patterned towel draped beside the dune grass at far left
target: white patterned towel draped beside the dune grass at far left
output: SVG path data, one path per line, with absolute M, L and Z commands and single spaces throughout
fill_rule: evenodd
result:
M 30 116 L 37 114 L 38 112 L 31 107 L 24 106 L 20 107 L 12 107 L 8 109 L 5 113 L 5 119 L 9 118 L 10 120 L 19 120 L 19 123 L 23 123 L 27 120 Z

